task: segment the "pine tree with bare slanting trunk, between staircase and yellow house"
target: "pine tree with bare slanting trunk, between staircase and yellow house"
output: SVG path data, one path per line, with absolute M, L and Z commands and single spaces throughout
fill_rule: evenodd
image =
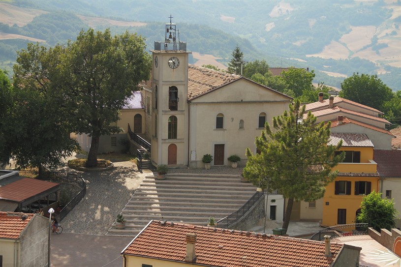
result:
M 283 228 L 288 228 L 292 206 L 295 201 L 314 201 L 323 197 L 325 186 L 337 176 L 335 167 L 343 154 L 335 156 L 341 146 L 327 145 L 330 139 L 330 122 L 316 124 L 316 117 L 305 114 L 305 106 L 299 100 L 290 104 L 289 111 L 273 119 L 256 137 L 259 153 L 252 154 L 247 148 L 247 166 L 244 177 L 254 185 L 278 190 L 288 204 Z M 262 182 L 261 182 L 262 181 Z

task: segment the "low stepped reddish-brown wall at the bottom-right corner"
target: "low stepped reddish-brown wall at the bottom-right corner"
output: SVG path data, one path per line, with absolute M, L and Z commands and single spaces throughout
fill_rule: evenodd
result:
M 380 230 L 381 233 L 379 234 L 373 228 L 369 228 L 368 234 L 378 243 L 401 257 L 401 231 L 396 228 L 391 229 L 391 232 L 386 229 Z

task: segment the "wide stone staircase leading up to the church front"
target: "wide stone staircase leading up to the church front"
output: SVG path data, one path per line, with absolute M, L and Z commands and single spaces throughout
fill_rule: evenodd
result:
M 207 225 L 241 208 L 255 193 L 237 175 L 169 174 L 164 180 L 147 176 L 123 208 L 125 229 L 115 223 L 108 236 L 136 236 L 151 220 Z

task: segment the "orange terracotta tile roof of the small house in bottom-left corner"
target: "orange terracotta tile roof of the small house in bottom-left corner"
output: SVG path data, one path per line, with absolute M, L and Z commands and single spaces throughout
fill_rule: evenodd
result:
M 23 220 L 22 216 L 26 219 Z M 0 211 L 0 238 L 18 239 L 34 214 Z

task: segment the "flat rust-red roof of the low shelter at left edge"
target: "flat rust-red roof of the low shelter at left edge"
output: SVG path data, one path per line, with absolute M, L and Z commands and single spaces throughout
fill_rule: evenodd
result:
M 59 184 L 55 182 L 22 178 L 15 182 L 1 186 L 0 199 L 21 202 L 56 186 L 59 186 Z

